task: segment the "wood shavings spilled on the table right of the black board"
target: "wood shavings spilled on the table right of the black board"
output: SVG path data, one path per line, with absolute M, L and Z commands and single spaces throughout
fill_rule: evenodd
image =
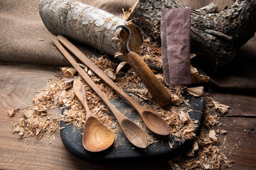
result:
M 227 131 L 218 125 L 218 115 L 213 112 L 215 106 L 213 98 L 206 97 L 205 120 L 201 128 L 201 135 L 193 140 L 193 147 L 183 157 L 169 161 L 172 169 L 225 169 L 232 167 L 230 162 L 219 146 L 218 135 L 225 135 Z M 223 105 L 224 108 L 227 106 Z M 228 110 L 227 112 L 228 113 Z M 221 113 L 223 114 L 223 113 Z M 218 130 L 212 130 L 213 126 L 218 125 Z M 224 144 L 225 145 L 225 144 Z

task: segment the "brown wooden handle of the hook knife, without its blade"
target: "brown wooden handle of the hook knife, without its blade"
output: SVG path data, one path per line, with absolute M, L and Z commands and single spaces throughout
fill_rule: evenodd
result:
M 139 57 L 135 52 L 129 52 L 127 62 L 134 69 L 134 72 L 138 74 L 146 89 L 149 90 L 150 94 L 160 106 L 166 106 L 171 102 L 171 95 L 144 60 L 142 60 L 142 57 Z

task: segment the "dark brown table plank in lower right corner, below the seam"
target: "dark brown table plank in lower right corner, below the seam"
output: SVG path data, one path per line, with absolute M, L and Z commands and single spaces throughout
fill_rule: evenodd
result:
M 219 136 L 220 145 L 223 146 L 221 150 L 230 161 L 234 161 L 233 169 L 255 169 L 255 118 L 223 117 L 220 123 L 223 125 L 221 128 L 228 131 L 226 135 Z

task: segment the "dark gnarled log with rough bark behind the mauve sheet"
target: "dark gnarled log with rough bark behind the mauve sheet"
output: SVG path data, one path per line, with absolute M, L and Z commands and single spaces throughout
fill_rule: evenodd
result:
M 127 16 L 144 33 L 161 44 L 161 9 L 186 7 L 174 0 L 139 0 Z M 208 69 L 218 70 L 233 60 L 239 47 L 256 30 L 256 1 L 236 1 L 218 12 L 213 4 L 191 10 L 191 52 L 195 52 Z

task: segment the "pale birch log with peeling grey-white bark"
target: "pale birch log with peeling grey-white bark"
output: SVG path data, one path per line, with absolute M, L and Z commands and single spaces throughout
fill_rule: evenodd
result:
M 142 45 L 142 34 L 133 23 L 78 1 L 41 0 L 39 13 L 53 35 L 84 42 L 110 55 L 124 51 L 122 42 L 126 42 L 126 32 L 121 28 L 115 30 L 120 25 L 126 25 L 132 30 L 131 50 L 137 51 Z

